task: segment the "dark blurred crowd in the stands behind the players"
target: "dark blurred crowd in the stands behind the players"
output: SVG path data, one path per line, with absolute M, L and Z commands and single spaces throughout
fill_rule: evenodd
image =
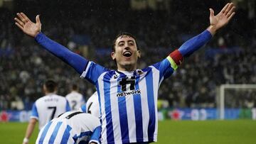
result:
M 13 9 L 0 7 L 0 110 L 31 109 L 33 101 L 43 95 L 46 79 L 58 82 L 58 94 L 63 96 L 74 82 L 85 98 L 95 92 L 92 84 L 80 79 L 72 67 L 16 28 L 13 20 L 16 12 L 23 11 L 32 21 L 37 13 L 41 14 L 42 31 L 49 38 L 110 69 L 115 68 L 110 57 L 112 40 L 120 31 L 128 31 L 139 42 L 142 69 L 164 59 L 188 38 L 204 31 L 209 24 L 208 8 L 212 6 L 218 13 L 226 3 L 186 1 L 185 4 L 172 0 L 166 6 L 168 9 L 159 5 L 156 9 L 134 10 L 129 1 L 122 4 L 52 1 L 51 6 L 47 1 L 16 2 Z M 256 21 L 248 13 L 238 6 L 233 21 L 163 82 L 159 99 L 168 101 L 172 108 L 211 108 L 216 106 L 220 84 L 255 84 Z M 255 92 L 246 94 L 238 99 L 244 102 L 236 107 L 248 107 L 248 101 L 250 106 L 256 105 Z

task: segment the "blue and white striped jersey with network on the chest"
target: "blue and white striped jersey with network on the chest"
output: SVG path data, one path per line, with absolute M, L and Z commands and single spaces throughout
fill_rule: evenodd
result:
M 157 140 L 157 95 L 177 65 L 169 56 L 134 72 L 107 70 L 88 62 L 81 77 L 95 84 L 100 101 L 102 143 Z

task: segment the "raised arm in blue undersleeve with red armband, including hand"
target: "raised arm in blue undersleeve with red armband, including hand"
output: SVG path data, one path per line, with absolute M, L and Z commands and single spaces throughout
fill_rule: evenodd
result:
M 177 65 L 181 64 L 183 57 L 188 57 L 193 52 L 201 48 L 203 45 L 208 43 L 210 38 L 223 26 L 227 25 L 228 22 L 235 15 L 235 6 L 233 3 L 226 4 L 223 9 L 214 16 L 213 9 L 210 9 L 210 26 L 203 33 L 196 35 L 190 40 L 183 43 L 178 50 L 175 50 L 170 54 L 170 56 L 174 59 Z

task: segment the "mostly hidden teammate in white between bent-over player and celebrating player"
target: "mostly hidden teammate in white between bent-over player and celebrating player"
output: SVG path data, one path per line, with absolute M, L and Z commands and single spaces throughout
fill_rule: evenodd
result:
M 91 113 L 93 116 L 100 118 L 100 104 L 97 92 L 93 93 L 86 102 L 86 104 L 83 104 L 81 106 L 80 111 L 85 113 Z

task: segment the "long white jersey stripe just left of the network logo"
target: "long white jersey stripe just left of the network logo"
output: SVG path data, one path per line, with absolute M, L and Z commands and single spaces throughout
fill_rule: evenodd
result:
M 113 75 L 114 76 L 114 75 Z M 114 133 L 114 143 L 122 143 L 122 134 L 120 127 L 119 109 L 118 109 L 118 98 L 117 98 L 117 79 L 112 77 L 110 79 L 110 106 L 112 114 L 112 124 Z

